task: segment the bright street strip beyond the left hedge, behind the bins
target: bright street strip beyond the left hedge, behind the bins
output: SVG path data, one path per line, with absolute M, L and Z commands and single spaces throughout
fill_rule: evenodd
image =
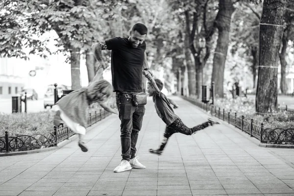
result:
M 49 107 L 47 108 L 47 110 Z M 40 112 L 45 111 L 44 100 L 27 100 L 27 112 Z M 25 103 L 22 102 L 22 112 L 25 112 Z M 12 113 L 12 101 L 11 99 L 0 100 L 0 113 L 11 114 Z

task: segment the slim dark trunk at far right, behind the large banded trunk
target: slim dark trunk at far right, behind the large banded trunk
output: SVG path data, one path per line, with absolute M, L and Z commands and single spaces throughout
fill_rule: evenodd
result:
M 286 49 L 288 45 L 288 40 L 286 38 L 285 32 L 282 38 L 282 49 L 281 53 L 279 54 L 280 62 L 281 62 L 281 83 L 280 83 L 280 89 L 282 94 L 287 93 L 287 83 L 286 83 L 286 67 L 287 67 L 287 61 L 286 61 Z

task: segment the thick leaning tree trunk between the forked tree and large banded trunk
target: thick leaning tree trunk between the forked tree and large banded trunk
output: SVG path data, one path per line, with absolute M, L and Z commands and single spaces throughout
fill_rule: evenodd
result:
M 211 83 L 215 82 L 215 94 L 223 98 L 224 64 L 229 45 L 231 16 L 235 8 L 232 0 L 220 0 L 216 25 L 219 31 L 217 48 L 213 58 Z

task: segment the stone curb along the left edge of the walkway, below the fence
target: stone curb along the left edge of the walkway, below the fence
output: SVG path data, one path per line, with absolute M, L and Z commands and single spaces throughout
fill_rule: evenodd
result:
M 112 114 L 106 116 L 101 121 L 98 121 L 97 123 L 92 124 L 91 126 L 87 127 L 88 130 L 86 130 L 86 132 L 89 132 L 89 131 L 93 130 L 100 123 L 106 121 L 108 119 L 108 117 L 111 116 L 111 115 Z M 8 153 L 4 152 L 4 153 L 0 153 L 0 157 L 1 156 L 14 156 L 14 155 L 24 155 L 24 154 L 32 154 L 32 153 L 39 153 L 39 152 L 47 152 L 47 151 L 50 151 L 50 150 L 58 150 L 59 148 L 62 148 L 64 146 L 66 146 L 67 144 L 73 142 L 76 139 L 77 139 L 77 135 L 74 134 L 69 139 L 66 139 L 66 140 L 58 143 L 57 147 L 46 147 L 46 148 L 41 148 L 41 149 L 25 150 L 25 151 L 19 151 L 19 152 L 8 152 Z

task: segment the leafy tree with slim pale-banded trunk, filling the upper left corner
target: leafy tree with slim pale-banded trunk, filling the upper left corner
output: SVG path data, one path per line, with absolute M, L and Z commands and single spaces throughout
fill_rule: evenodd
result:
M 1 48 L 1 56 L 27 58 L 24 48 L 30 47 L 30 53 L 45 57 L 42 53 L 49 51 L 46 48 L 47 40 L 42 42 L 33 38 L 54 30 L 58 35 L 56 52 L 68 55 L 71 63 L 72 88 L 80 88 L 80 54 L 91 47 L 89 43 L 97 36 L 95 26 L 89 27 L 88 22 L 98 23 L 100 18 L 94 12 L 93 1 L 4 0 L 0 5 L 2 10 L 6 10 L 1 15 L 1 31 L 4 33 L 1 42 L 13 41 L 13 45 L 17 46 Z M 13 17 L 16 19 L 10 21 Z M 22 29 L 23 32 L 9 30 L 13 28 Z

